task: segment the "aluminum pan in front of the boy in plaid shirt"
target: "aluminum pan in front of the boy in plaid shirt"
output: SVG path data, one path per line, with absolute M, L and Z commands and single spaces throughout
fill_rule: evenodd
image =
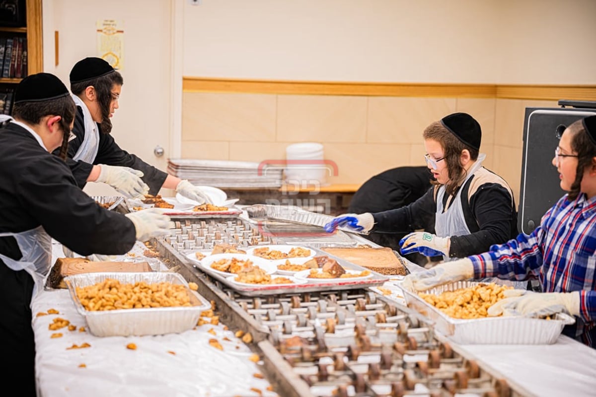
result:
M 445 291 L 473 287 L 479 282 L 457 282 L 424 291 L 439 295 Z M 403 289 L 408 307 L 429 317 L 435 329 L 449 336 L 455 343 L 491 345 L 550 345 L 561 334 L 563 327 L 573 324 L 575 319 L 567 314 L 555 315 L 552 320 L 528 317 L 491 317 L 461 320 L 452 318 L 428 304 L 412 290 Z

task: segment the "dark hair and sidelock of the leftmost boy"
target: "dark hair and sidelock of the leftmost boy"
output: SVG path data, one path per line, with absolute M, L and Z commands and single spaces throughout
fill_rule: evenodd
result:
M 57 99 L 39 102 L 19 102 L 13 106 L 13 117 L 26 121 L 29 124 L 39 124 L 42 118 L 48 115 L 61 116 L 60 128 L 62 129 L 62 145 L 60 158 L 66 160 L 69 148 L 70 125 L 75 120 L 76 105 L 70 95 Z

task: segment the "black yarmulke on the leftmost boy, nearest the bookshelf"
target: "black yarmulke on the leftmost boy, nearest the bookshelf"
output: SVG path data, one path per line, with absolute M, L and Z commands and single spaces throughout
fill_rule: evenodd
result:
M 14 103 L 41 102 L 70 95 L 63 82 L 50 73 L 36 73 L 25 77 L 14 91 Z

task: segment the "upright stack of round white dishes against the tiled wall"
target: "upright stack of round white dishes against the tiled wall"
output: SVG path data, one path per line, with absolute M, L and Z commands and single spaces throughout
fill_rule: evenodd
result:
M 285 148 L 285 180 L 294 185 L 324 185 L 328 167 L 324 162 L 323 145 L 316 142 L 293 143 Z

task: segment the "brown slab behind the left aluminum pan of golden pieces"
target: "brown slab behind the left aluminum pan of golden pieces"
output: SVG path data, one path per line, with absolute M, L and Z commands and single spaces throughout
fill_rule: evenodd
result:
M 93 262 L 87 258 L 58 258 L 49 271 L 46 284 L 51 288 L 66 288 L 64 277 L 81 273 L 111 271 L 152 271 L 148 262 Z

